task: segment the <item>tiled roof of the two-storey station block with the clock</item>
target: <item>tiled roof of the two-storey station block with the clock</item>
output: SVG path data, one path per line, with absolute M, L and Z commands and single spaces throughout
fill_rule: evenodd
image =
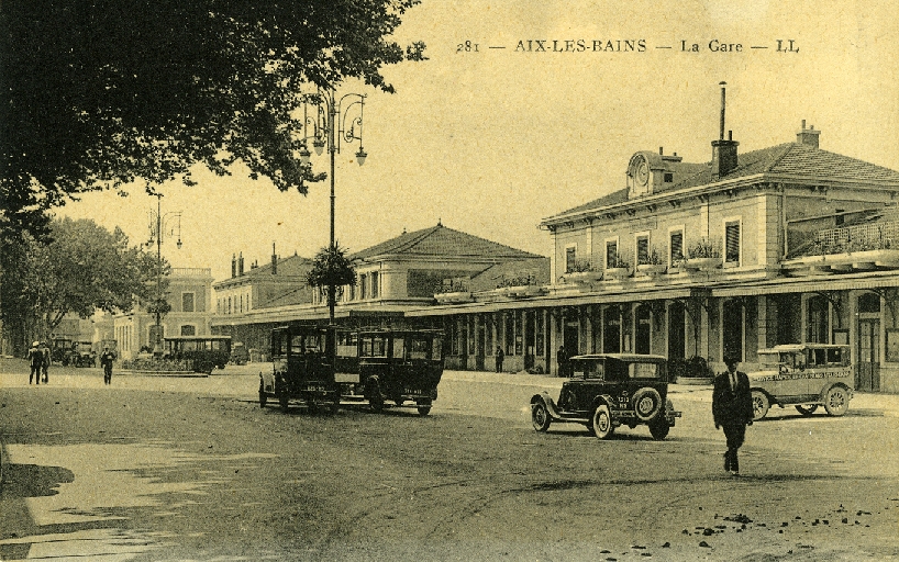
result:
M 834 180 L 868 180 L 899 183 L 899 171 L 884 168 L 857 158 L 851 158 L 836 153 L 822 150 L 801 143 L 785 143 L 783 145 L 752 150 L 737 156 L 739 166 L 722 178 L 712 177 L 710 162 L 690 165 L 684 162 L 681 171 L 695 167 L 697 172 L 686 179 L 656 188 L 655 193 L 708 186 L 718 181 L 756 176 L 759 173 L 807 176 L 809 178 L 825 177 Z M 552 221 L 568 214 L 601 209 L 628 201 L 628 189 L 614 191 L 589 203 L 563 211 L 546 221 Z

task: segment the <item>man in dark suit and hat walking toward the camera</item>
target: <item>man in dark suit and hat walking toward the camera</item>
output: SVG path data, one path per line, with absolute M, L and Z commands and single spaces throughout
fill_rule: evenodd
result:
M 737 371 L 740 361 L 734 357 L 724 358 L 728 370 L 714 379 L 712 390 L 712 417 L 714 428 L 724 428 L 728 451 L 724 453 L 724 470 L 740 475 L 740 460 L 736 451 L 746 438 L 746 426 L 753 423 L 752 392 L 750 379 Z

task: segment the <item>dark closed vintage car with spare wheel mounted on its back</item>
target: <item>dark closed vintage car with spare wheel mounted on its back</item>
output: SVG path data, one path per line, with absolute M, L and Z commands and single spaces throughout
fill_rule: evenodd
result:
M 531 398 L 531 422 L 537 431 L 566 422 L 584 424 L 599 439 L 608 439 L 622 425 L 631 429 L 646 425 L 653 439 L 665 439 L 680 417 L 668 398 L 667 360 L 662 356 L 576 356 L 569 372 L 558 404 L 546 392 Z

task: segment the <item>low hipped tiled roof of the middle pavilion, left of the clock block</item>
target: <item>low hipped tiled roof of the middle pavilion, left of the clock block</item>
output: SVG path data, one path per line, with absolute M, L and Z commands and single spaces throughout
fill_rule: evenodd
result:
M 357 251 L 351 257 L 353 259 L 368 259 L 387 255 L 490 259 L 526 259 L 541 257 L 453 228 L 447 228 L 441 224 L 413 233 L 403 233 L 396 238 Z

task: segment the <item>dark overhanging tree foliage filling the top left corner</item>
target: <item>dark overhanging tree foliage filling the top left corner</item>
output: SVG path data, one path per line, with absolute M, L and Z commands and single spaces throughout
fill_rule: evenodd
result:
M 202 164 L 307 193 L 303 91 L 423 59 L 390 37 L 420 0 L 0 3 L 0 231 L 78 193 Z

